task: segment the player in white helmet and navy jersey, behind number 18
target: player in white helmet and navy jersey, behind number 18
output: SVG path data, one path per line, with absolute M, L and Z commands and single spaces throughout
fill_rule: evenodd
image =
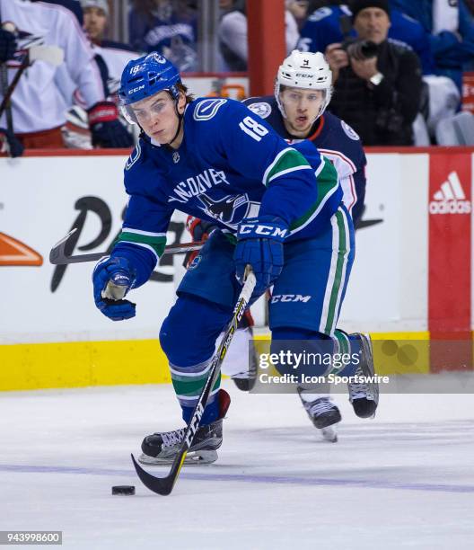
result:
M 354 223 L 360 219 L 365 196 L 365 155 L 361 140 L 343 120 L 326 111 L 331 97 L 332 75 L 328 63 L 320 53 L 294 50 L 278 68 L 274 96 L 252 97 L 243 102 L 250 111 L 266 120 L 276 132 L 290 144 L 307 139 L 312 142 L 302 144 L 322 153 L 334 164 L 339 182 L 344 191 L 344 203 L 351 213 Z M 314 147 L 317 147 L 315 149 Z M 308 151 L 308 149 L 305 149 Z M 213 222 L 190 219 L 189 228 L 195 240 L 202 234 L 209 234 L 215 227 Z M 345 334 L 337 331 L 341 339 Z M 251 338 L 251 327 L 244 325 L 239 331 L 239 339 L 233 343 L 233 351 L 226 359 L 223 372 L 233 378 L 241 389 L 250 389 L 255 370 L 247 361 L 247 350 L 238 346 L 249 345 L 244 335 Z M 362 418 L 372 416 L 376 403 L 368 388 L 349 388 L 349 395 L 355 413 Z M 341 420 L 336 404 L 329 395 L 301 392 L 303 404 L 314 425 L 322 430 L 325 439 L 335 440 L 335 424 Z M 331 427 L 329 429 L 329 427 Z

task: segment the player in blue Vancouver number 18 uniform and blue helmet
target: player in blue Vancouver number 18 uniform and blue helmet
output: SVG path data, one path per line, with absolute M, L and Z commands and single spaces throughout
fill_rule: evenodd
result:
M 215 221 L 220 228 L 181 281 L 160 332 L 188 422 L 248 264 L 257 280 L 254 299 L 271 285 L 274 294 L 308 297 L 270 305 L 275 350 L 288 340 L 305 341 L 315 349 L 323 342 L 337 345 L 335 328 L 355 253 L 354 228 L 328 159 L 314 149 L 310 164 L 240 102 L 194 100 L 177 69 L 159 54 L 127 64 L 119 95 L 142 135 L 125 167 L 129 201 L 122 232 L 92 274 L 93 296 L 102 314 L 114 321 L 136 315 L 135 304 L 118 299 L 116 288 L 125 296 L 149 279 L 175 209 Z M 362 359 L 369 351 L 359 335 L 346 343 Z M 351 361 L 338 374 L 372 374 L 367 366 L 366 360 Z M 313 374 L 322 375 L 318 371 L 325 368 L 315 366 Z M 219 385 L 218 380 L 206 404 L 190 460 L 211 462 L 217 457 L 230 404 Z M 141 460 L 170 462 L 184 431 L 146 437 Z

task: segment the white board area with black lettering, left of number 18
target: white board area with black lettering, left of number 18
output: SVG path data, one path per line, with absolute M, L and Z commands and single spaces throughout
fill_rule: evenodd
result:
M 173 283 L 151 282 L 134 292 L 138 315 L 127 323 L 110 323 L 92 299 L 94 263 L 70 265 L 57 291 L 50 290 L 54 266 L 49 249 L 69 231 L 78 211 L 77 200 L 93 196 L 104 200 L 112 213 L 108 239 L 87 252 L 107 248 L 121 226 L 127 204 L 123 189 L 126 157 L 24 158 L 0 160 L 2 203 L 0 230 L 39 252 L 44 263 L 36 267 L 3 267 L 0 333 L 2 343 L 67 342 L 156 338 L 162 319 L 174 300 Z M 89 243 L 100 231 L 99 217 L 88 213 L 79 244 Z M 182 258 L 182 256 L 181 256 Z M 170 272 L 170 268 L 162 271 Z M 160 288 L 156 288 L 159 285 Z

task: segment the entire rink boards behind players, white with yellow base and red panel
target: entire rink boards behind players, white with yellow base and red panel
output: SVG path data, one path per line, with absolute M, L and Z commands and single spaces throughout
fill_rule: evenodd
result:
M 472 157 L 466 148 L 369 150 L 364 226 L 340 326 L 389 339 L 439 333 L 470 340 Z M 95 308 L 93 264 L 48 262 L 52 244 L 72 226 L 80 227 L 75 253 L 112 243 L 127 204 L 126 158 L 123 151 L 0 158 L 0 389 L 169 380 L 157 337 L 182 256 L 168 258 L 134 291 L 136 318 L 123 323 Z M 443 202 L 438 191 L 456 184 L 452 173 L 461 191 L 444 202 L 469 212 L 430 214 Z M 169 244 L 189 240 L 183 219 L 173 218 Z M 261 307 L 255 313 L 261 324 Z

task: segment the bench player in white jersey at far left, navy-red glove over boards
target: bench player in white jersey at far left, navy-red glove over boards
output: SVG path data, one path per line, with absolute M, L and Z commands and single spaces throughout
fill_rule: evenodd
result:
M 16 27 L 18 47 L 35 43 L 63 49 L 67 72 L 83 94 L 94 146 L 131 146 L 133 141 L 118 122 L 114 103 L 105 101 L 101 78 L 92 49 L 75 15 L 64 7 L 44 2 L 0 0 L 4 21 Z M 8 63 L 11 83 L 18 61 Z M 28 77 L 22 75 L 12 96 L 13 130 L 23 146 L 52 148 L 64 146 L 61 127 L 66 122 L 64 100 L 57 84 L 57 68 L 45 62 L 33 63 Z M 0 99 L 2 93 L 0 93 Z M 4 117 L 0 127 L 4 127 Z

